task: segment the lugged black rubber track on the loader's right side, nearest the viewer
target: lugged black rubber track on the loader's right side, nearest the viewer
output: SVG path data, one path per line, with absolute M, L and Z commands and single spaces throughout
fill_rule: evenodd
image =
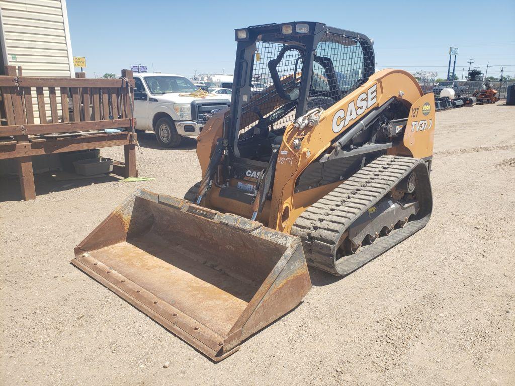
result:
M 349 225 L 381 200 L 408 173 L 416 169 L 420 210 L 415 219 L 356 254 L 336 260 L 336 251 Z M 423 160 L 383 155 L 306 209 L 291 234 L 300 236 L 307 263 L 334 275 L 346 275 L 425 226 L 432 210 L 429 174 Z

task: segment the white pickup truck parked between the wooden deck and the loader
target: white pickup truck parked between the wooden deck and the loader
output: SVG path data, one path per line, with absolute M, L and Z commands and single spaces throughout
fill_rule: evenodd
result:
M 152 130 L 160 145 L 179 146 L 186 135 L 198 135 L 215 113 L 231 106 L 219 94 L 188 96 L 198 91 L 188 79 L 173 74 L 134 74 L 136 129 Z

